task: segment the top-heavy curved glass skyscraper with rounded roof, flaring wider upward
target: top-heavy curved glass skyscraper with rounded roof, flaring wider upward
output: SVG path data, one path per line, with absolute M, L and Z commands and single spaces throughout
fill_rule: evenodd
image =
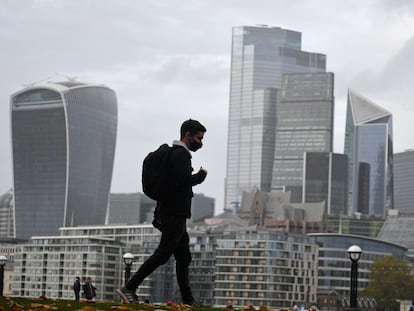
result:
M 13 94 L 10 106 L 16 238 L 104 224 L 117 130 L 115 92 L 49 83 Z

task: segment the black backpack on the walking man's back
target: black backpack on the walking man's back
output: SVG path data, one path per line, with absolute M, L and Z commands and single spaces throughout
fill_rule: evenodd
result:
M 155 201 L 166 198 L 171 193 L 167 172 L 171 150 L 172 147 L 163 144 L 150 152 L 142 163 L 142 190 Z

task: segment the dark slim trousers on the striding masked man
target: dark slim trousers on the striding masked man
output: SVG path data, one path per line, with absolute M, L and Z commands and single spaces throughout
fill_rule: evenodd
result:
M 135 291 L 144 279 L 159 266 L 165 264 L 174 254 L 178 286 L 184 303 L 193 303 L 188 279 L 188 266 L 191 262 L 189 237 L 185 216 L 160 214 L 161 240 L 154 254 L 149 257 L 132 278 L 125 284 L 128 290 Z

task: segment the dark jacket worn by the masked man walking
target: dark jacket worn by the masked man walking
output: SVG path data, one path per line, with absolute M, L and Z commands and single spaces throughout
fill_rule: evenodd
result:
M 171 196 L 158 202 L 159 212 L 165 215 L 191 217 L 193 186 L 206 178 L 204 171 L 193 174 L 190 152 L 180 145 L 173 145 L 168 161 L 169 182 L 173 191 Z

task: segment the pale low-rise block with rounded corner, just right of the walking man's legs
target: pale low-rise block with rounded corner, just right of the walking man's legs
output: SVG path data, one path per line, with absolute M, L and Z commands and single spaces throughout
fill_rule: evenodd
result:
M 217 239 L 215 304 L 316 303 L 318 248 L 304 235 L 246 230 Z

